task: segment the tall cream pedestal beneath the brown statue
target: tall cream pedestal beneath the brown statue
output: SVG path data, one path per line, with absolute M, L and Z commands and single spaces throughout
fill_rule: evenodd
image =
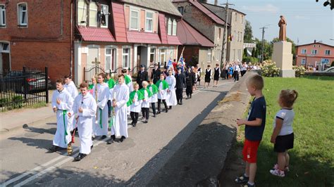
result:
M 273 44 L 273 62 L 280 67 L 280 77 L 295 77 L 292 70 L 292 44 L 287 41 L 278 41 Z

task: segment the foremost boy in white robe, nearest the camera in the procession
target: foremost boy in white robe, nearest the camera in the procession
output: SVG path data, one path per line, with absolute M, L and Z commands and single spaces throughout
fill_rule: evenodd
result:
M 82 157 L 88 155 L 93 145 L 92 125 L 93 117 L 97 112 L 97 102 L 91 94 L 88 93 L 87 83 L 80 84 L 81 94 L 75 98 L 73 111 L 78 117 L 78 132 L 80 138 L 80 155 L 75 161 L 80 161 Z

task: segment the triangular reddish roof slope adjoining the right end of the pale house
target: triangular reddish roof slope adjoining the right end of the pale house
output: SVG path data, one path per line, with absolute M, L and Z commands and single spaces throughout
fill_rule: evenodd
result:
M 185 20 L 178 22 L 178 38 L 183 45 L 214 47 L 214 43 L 204 37 L 203 34 L 194 29 Z

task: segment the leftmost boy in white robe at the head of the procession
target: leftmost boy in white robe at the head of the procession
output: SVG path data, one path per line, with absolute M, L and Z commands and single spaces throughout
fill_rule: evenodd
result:
M 52 95 L 52 108 L 56 112 L 57 117 L 57 130 L 54 135 L 53 146 L 49 148 L 51 152 L 56 152 L 59 147 L 67 148 L 72 136 L 70 135 L 70 129 L 68 120 L 70 118 L 70 110 L 73 107 L 73 98 L 70 93 L 63 88 L 63 80 L 56 80 L 56 88 Z

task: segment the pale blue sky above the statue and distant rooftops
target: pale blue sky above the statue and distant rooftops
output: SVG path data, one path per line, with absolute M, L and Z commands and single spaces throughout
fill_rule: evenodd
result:
M 278 37 L 280 15 L 287 20 L 287 37 L 295 44 L 309 44 L 322 41 L 334 46 L 334 9 L 324 7 L 326 0 L 228 0 L 230 6 L 246 13 L 246 20 L 252 25 L 253 37 L 261 39 L 260 27 L 268 27 L 264 39 L 271 41 Z M 214 3 L 214 0 L 209 0 Z M 218 0 L 225 4 L 226 0 Z M 333 39 L 333 40 L 331 40 Z M 299 41 L 299 42 L 298 42 Z

